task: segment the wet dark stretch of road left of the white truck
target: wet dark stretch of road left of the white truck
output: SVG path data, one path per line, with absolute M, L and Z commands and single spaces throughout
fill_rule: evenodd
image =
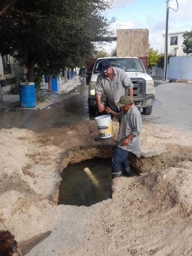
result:
M 76 96 L 57 102 L 43 110 L 26 110 L 16 106 L 0 109 L 0 129 L 17 127 L 41 133 L 52 127 L 72 125 L 89 117 L 87 106 L 88 86 L 82 80 L 70 93 Z

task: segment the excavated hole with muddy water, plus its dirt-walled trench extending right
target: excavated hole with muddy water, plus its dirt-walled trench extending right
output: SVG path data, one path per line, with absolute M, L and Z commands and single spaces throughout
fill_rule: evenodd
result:
M 131 169 L 138 175 L 154 174 L 158 170 L 174 167 L 177 162 L 191 159 L 191 148 L 170 148 L 170 152 L 148 156 L 130 155 Z M 114 146 L 78 147 L 65 152 L 61 170 L 58 204 L 90 206 L 111 198 L 111 155 Z M 178 154 L 178 152 L 180 152 Z M 86 173 L 89 168 L 90 173 Z M 89 171 L 88 171 L 89 172 Z

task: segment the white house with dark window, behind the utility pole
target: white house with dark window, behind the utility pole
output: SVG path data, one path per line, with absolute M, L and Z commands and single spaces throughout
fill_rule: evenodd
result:
M 169 32 L 168 34 L 168 55 L 186 56 L 182 50 L 183 33 L 186 31 Z M 165 34 L 162 34 L 162 53 L 165 52 Z

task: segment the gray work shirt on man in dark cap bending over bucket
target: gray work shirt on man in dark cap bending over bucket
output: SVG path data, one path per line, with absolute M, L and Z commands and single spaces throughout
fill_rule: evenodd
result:
M 121 68 L 114 68 L 114 77 L 112 81 L 106 77 L 103 73 L 100 73 L 97 77 L 95 94 L 101 96 L 106 95 L 108 105 L 111 109 L 116 110 L 116 103 L 120 101 L 120 97 L 128 94 L 128 89 L 133 88 L 130 77 Z

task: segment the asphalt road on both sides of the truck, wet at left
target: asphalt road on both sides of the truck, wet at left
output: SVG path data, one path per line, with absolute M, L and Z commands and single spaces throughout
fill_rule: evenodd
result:
M 74 89 L 76 96 L 43 110 L 5 108 L 0 110 L 0 129 L 18 127 L 37 133 L 89 121 L 88 86 L 83 80 Z M 155 88 L 155 104 L 151 115 L 142 115 L 144 122 L 160 123 L 192 131 L 192 84 L 168 83 Z

